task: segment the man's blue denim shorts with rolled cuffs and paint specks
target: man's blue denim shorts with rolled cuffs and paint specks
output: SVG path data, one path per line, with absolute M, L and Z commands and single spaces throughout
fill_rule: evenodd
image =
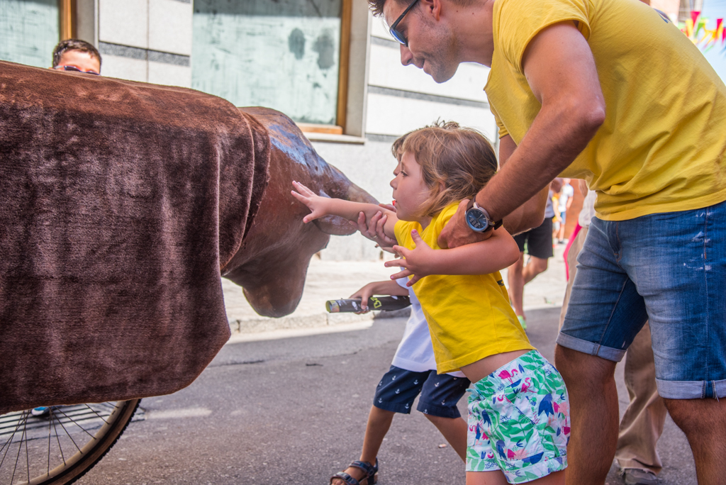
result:
M 726 396 L 726 202 L 592 219 L 557 343 L 619 362 L 647 319 L 658 394 Z

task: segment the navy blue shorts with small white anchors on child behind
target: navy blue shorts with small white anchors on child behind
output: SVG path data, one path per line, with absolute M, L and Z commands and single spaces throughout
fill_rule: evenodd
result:
M 425 415 L 460 417 L 456 404 L 469 387 L 467 378 L 455 378 L 449 374 L 436 374 L 436 370 L 413 372 L 391 365 L 378 383 L 373 405 L 391 412 L 410 414 L 416 396 L 418 409 Z

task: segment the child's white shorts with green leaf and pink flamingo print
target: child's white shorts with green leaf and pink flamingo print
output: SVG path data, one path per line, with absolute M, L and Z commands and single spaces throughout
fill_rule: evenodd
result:
M 529 351 L 468 392 L 467 471 L 502 470 L 521 484 L 567 468 L 567 389 L 542 354 Z

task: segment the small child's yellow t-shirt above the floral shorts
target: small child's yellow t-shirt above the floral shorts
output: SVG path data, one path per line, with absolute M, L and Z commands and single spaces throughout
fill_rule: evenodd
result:
M 458 205 L 446 207 L 423 230 L 417 222 L 396 222 L 399 245 L 415 248 L 411 231 L 416 229 L 426 244 L 441 249 L 436 240 Z M 510 306 L 499 272 L 432 274 L 416 282 L 413 289 L 428 322 L 439 374 L 454 372 L 486 356 L 534 349 Z

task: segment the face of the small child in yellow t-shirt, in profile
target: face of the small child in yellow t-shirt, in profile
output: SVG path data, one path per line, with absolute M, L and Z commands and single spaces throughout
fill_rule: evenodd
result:
M 409 152 L 404 152 L 393 171 L 391 180 L 393 200 L 396 201 L 396 217 L 403 221 L 417 221 L 420 208 L 431 197 L 421 174 L 421 166 Z

